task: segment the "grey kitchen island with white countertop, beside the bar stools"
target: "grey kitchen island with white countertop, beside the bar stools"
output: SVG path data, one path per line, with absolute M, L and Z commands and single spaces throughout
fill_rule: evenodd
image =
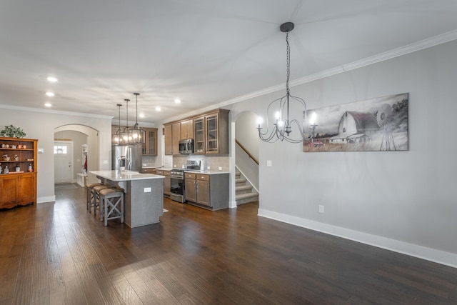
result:
M 164 214 L 164 176 L 137 171 L 90 171 L 102 183 L 124 189 L 124 222 L 134 228 L 156 224 Z

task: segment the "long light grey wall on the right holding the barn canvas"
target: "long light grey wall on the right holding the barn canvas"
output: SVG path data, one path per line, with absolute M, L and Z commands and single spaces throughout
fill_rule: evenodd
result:
M 292 87 L 308 109 L 408 92 L 409 151 L 303 153 L 301 144 L 261 143 L 258 213 L 457 266 L 456 54 L 451 41 Z M 264 114 L 284 93 L 234 104 L 232 117 Z

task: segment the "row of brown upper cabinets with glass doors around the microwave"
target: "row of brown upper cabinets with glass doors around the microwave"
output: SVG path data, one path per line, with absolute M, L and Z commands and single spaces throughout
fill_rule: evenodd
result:
M 165 149 L 165 154 L 179 154 L 179 140 L 184 139 L 194 139 L 194 154 L 229 154 L 229 110 L 216 109 L 164 126 L 165 143 L 178 145 Z

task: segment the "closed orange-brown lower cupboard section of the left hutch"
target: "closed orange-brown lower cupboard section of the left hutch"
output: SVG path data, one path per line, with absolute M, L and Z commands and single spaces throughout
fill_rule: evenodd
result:
M 0 179 L 0 209 L 36 204 L 36 173 L 3 174 Z

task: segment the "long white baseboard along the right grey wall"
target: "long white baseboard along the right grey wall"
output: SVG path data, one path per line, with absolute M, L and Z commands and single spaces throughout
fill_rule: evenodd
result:
M 451 252 L 427 248 L 425 246 L 418 246 L 416 244 L 408 244 L 404 241 L 397 241 L 395 239 L 388 239 L 382 236 L 363 233 L 351 229 L 341 228 L 339 226 L 332 226 L 330 224 L 323 224 L 318 221 L 311 221 L 308 219 L 298 218 L 286 214 L 268 211 L 266 209 L 258 209 L 258 216 L 263 216 L 269 219 L 286 222 L 295 226 L 301 226 L 313 231 L 319 231 L 333 236 L 342 237 L 343 239 L 351 239 L 363 244 L 377 246 L 378 248 L 395 251 L 401 254 L 414 256 L 419 259 L 426 259 L 438 264 L 451 266 L 457 268 L 457 254 Z

